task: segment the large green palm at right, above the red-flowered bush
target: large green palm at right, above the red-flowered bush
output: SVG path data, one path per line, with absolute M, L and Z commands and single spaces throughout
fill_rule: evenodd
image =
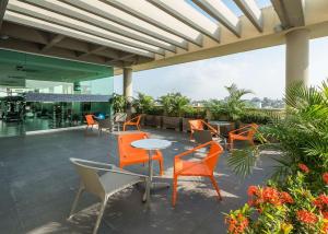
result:
M 274 179 L 295 173 L 300 163 L 308 165 L 318 175 L 328 171 L 328 80 L 320 87 L 294 84 L 286 90 L 284 101 L 285 116 L 272 115 L 271 124 L 258 132 L 268 140 L 266 143 L 233 151 L 229 165 L 235 173 L 248 175 L 262 149 L 272 147 L 282 153 L 276 159 L 279 165 Z M 313 186 L 318 180 L 315 177 Z

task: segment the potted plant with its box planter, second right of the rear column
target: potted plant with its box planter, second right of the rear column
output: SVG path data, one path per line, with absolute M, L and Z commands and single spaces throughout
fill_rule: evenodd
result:
M 180 130 L 183 109 L 190 103 L 190 100 L 180 93 L 168 93 L 160 97 L 163 105 L 163 128 Z

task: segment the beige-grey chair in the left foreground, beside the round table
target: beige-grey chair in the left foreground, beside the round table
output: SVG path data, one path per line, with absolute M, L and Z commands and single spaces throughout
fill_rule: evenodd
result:
M 137 183 L 147 182 L 149 178 L 149 176 L 145 175 L 120 169 L 113 164 L 80 159 L 70 159 L 70 161 L 74 164 L 77 172 L 81 177 L 81 185 L 74 199 L 69 219 L 74 215 L 78 201 L 83 191 L 89 191 L 102 200 L 102 207 L 93 234 L 97 233 L 109 197 L 127 187 L 136 185 Z M 105 173 L 103 175 L 98 175 L 99 172 Z M 145 183 L 145 186 L 147 185 L 148 183 Z

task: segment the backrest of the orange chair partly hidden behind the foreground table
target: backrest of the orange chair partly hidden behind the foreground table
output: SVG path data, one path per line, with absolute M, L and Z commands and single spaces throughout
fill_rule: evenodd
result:
M 147 151 L 142 149 L 137 149 L 131 145 L 132 141 L 138 141 L 142 139 L 149 138 L 145 132 L 133 132 L 128 134 L 119 134 L 118 136 L 118 151 L 119 157 L 128 156 L 129 154 L 139 153 L 141 155 L 145 154 Z

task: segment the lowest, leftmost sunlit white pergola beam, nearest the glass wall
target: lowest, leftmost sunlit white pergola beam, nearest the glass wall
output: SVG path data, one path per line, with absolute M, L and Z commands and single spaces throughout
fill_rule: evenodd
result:
M 116 43 L 120 43 L 127 46 L 136 47 L 138 49 L 142 49 L 145 51 L 164 55 L 164 50 L 157 47 L 149 46 L 148 44 L 139 43 L 130 38 L 122 37 L 120 35 L 114 34 L 106 30 L 90 25 L 87 23 L 78 21 L 72 17 L 65 16 L 62 14 L 58 14 L 48 10 L 45 10 L 39 7 L 35 7 L 25 2 L 10 0 L 8 3 L 8 9 L 12 11 L 16 11 L 22 14 L 26 14 L 32 17 L 37 17 L 50 23 L 55 23 L 61 26 L 70 27 L 73 30 L 78 30 L 87 34 L 92 34 L 104 39 L 114 40 Z

